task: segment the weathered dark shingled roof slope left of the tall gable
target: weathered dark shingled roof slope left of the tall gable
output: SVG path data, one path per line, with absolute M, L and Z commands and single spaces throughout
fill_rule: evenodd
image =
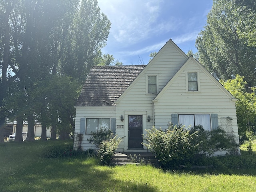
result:
M 92 66 L 76 106 L 116 106 L 114 102 L 145 66 Z

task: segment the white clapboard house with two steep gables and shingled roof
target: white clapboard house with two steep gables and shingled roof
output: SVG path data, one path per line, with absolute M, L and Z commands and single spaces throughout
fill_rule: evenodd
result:
M 87 139 L 103 126 L 124 136 L 119 152 L 147 152 L 142 145 L 145 130 L 166 129 L 172 122 L 201 124 L 207 130 L 221 127 L 238 144 L 235 101 L 198 61 L 169 40 L 146 66 L 92 66 L 75 106 L 75 133 L 82 134 L 82 150 L 95 149 Z M 77 144 L 75 138 L 74 148 Z

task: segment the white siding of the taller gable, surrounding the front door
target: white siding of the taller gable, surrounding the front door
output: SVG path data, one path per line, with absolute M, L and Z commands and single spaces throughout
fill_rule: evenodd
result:
M 116 104 L 116 125 L 124 126 L 124 128 L 116 129 L 118 136 L 124 136 L 124 142 L 120 144 L 118 150 L 128 149 L 128 115 L 143 115 L 144 135 L 146 134 L 145 129 L 150 129 L 154 125 L 152 100 L 156 97 L 156 94 L 147 94 L 147 76 L 158 76 L 158 92 L 160 92 L 186 60 L 188 60 L 188 57 L 173 42 L 166 43 L 152 62 L 146 66 L 128 90 L 124 92 Z M 121 115 L 124 116 L 123 122 L 120 120 Z M 150 122 L 147 121 L 148 115 L 151 117 Z M 146 150 L 146 148 L 144 149 Z

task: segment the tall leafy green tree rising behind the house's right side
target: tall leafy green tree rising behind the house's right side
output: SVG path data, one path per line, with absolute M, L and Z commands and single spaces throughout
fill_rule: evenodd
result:
M 241 36 L 246 32 L 246 17 L 240 16 L 244 7 L 236 0 L 214 0 L 207 16 L 207 25 L 196 39 L 200 63 L 219 79 L 244 76 L 246 87 L 256 84 L 256 49 Z M 249 26 L 248 26 L 249 27 Z

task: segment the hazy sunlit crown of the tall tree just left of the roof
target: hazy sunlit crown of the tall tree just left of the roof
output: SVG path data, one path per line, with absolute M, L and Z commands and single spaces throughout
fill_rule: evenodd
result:
M 94 58 L 106 45 L 110 21 L 100 12 L 97 0 L 81 0 L 69 33 L 69 46 L 61 60 L 64 74 L 83 82 Z

